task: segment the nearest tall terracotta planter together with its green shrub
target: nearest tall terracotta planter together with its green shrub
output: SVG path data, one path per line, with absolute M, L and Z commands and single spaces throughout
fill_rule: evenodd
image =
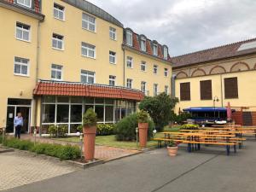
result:
M 97 115 L 89 108 L 83 115 L 84 160 L 94 160 Z

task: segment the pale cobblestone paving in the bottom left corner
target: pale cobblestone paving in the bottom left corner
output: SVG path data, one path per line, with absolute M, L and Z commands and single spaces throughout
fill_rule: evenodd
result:
M 3 153 L 0 154 L 0 190 L 61 176 L 76 170 L 64 162 L 48 160 L 24 152 Z

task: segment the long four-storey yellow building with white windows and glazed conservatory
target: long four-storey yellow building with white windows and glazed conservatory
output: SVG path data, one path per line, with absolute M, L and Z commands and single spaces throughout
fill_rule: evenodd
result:
M 25 132 L 67 125 L 74 133 L 87 108 L 100 123 L 115 123 L 135 112 L 144 95 L 171 93 L 167 46 L 87 1 L 0 0 L 0 22 L 0 127 L 10 133 L 18 112 Z

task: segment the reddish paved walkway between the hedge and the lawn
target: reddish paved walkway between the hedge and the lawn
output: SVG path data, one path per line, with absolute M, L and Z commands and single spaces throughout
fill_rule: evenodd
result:
M 21 139 L 30 139 L 33 141 L 33 137 L 31 135 L 22 135 Z M 72 142 L 64 142 L 55 139 L 45 138 L 45 137 L 37 137 L 37 141 L 40 143 L 57 143 L 57 144 L 71 144 L 71 145 L 79 145 L 79 143 Z M 96 145 L 95 158 L 98 160 L 113 160 L 119 157 L 125 157 L 130 154 L 137 154 L 139 151 L 127 148 L 113 148 L 107 146 L 99 146 Z

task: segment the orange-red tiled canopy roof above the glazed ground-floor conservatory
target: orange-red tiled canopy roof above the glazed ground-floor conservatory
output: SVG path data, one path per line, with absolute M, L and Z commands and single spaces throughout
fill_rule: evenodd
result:
M 38 82 L 33 94 L 35 96 L 91 96 L 136 101 L 141 101 L 144 97 L 142 91 L 124 87 L 44 80 Z

